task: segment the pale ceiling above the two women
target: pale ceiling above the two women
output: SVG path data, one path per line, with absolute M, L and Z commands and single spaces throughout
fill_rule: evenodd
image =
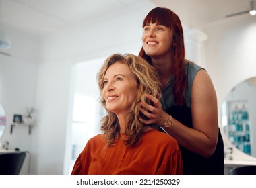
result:
M 109 15 L 132 12 L 148 4 L 168 7 L 191 28 L 249 9 L 250 0 L 0 0 L 0 28 L 11 26 L 44 36 Z M 110 19 L 111 17 L 109 17 Z

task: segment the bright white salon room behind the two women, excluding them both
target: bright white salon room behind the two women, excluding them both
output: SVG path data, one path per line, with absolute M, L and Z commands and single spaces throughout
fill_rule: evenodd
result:
M 70 174 L 100 133 L 98 68 L 110 54 L 139 53 L 141 24 L 154 7 L 179 15 L 186 58 L 212 78 L 225 174 L 256 165 L 256 1 L 1 0 L 0 164 L 7 173 Z

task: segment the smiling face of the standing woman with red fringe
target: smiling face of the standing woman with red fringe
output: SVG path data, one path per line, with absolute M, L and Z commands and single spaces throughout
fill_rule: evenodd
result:
M 172 32 L 170 28 L 156 23 L 144 26 L 141 37 L 145 53 L 152 57 L 170 55 Z

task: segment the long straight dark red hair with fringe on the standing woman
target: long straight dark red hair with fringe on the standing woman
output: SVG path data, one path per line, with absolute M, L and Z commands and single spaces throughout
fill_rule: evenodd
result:
M 184 93 L 185 88 L 187 87 L 187 77 L 184 68 L 185 45 L 181 20 L 170 9 L 156 7 L 145 17 L 142 27 L 150 23 L 158 23 L 172 30 L 172 46 L 170 47 L 172 52 L 171 59 L 173 62 L 172 70 L 174 75 L 172 92 L 174 95 L 174 103 L 177 105 L 183 105 L 186 103 Z M 139 52 L 139 56 L 151 64 L 151 58 L 145 53 L 143 47 Z

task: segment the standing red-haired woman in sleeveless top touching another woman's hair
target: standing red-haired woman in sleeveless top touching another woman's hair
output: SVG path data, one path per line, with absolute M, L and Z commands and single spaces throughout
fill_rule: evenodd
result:
M 170 9 L 156 7 L 143 21 L 139 56 L 156 68 L 162 98 L 148 95 L 152 105 L 141 112 L 177 139 L 183 174 L 224 174 L 224 147 L 218 128 L 214 85 L 204 68 L 185 59 L 183 28 Z

